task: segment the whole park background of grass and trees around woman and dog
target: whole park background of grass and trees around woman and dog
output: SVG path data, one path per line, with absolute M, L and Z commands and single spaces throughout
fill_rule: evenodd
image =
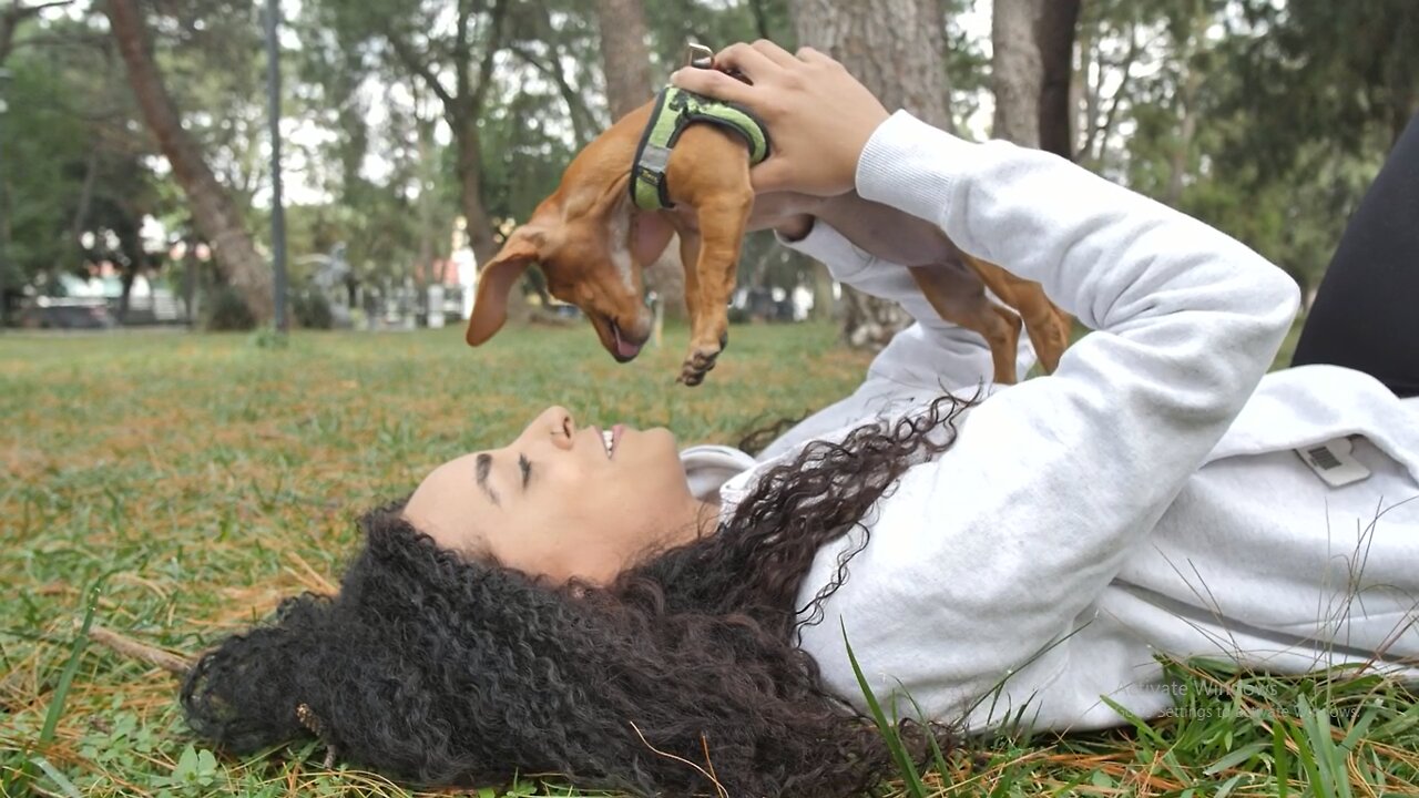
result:
M 907 319 L 759 234 L 700 389 L 673 385 L 673 257 L 651 270 L 666 341 L 631 365 L 535 270 L 508 334 L 457 329 L 460 266 L 688 41 L 759 37 L 1198 216 L 1307 297 L 1419 111 L 1412 0 L 0 0 L 6 794 L 402 794 L 314 743 L 214 755 L 176 682 L 94 630 L 190 655 L 329 592 L 359 510 L 548 403 L 732 443 L 851 390 Z M 1165 720 L 1002 736 L 888 789 L 1419 794 L 1396 686 L 1178 667 Z

